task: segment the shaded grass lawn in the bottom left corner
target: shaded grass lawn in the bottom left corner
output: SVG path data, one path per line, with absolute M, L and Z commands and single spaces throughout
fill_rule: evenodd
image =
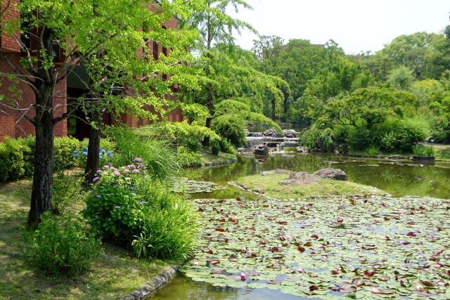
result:
M 0 299 L 118 299 L 162 269 L 162 263 L 135 259 L 124 249 L 105 244 L 104 254 L 94 259 L 89 273 L 47 277 L 29 266 L 21 251 L 30 193 L 29 180 L 0 185 Z

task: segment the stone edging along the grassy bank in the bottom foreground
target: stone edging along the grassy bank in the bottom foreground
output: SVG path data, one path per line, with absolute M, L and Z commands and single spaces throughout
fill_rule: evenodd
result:
M 158 291 L 161 287 L 167 285 L 167 283 L 174 278 L 176 272 L 179 270 L 179 266 L 169 265 L 162 269 L 161 273 L 156 275 L 150 282 L 145 285 L 141 285 L 139 289 L 123 296 L 120 300 L 136 300 L 143 299 L 146 296 Z

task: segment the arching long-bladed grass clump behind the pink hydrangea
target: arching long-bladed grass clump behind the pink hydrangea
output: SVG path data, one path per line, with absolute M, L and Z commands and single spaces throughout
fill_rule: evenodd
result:
M 111 129 L 110 136 L 117 149 L 113 156 L 116 166 L 130 164 L 135 157 L 140 157 L 146 164 L 148 175 L 158 179 L 174 175 L 179 168 L 174 145 L 170 141 L 125 128 Z

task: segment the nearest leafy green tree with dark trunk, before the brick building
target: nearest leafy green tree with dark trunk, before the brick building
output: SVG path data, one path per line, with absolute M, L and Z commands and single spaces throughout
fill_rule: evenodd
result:
M 12 83 L 20 81 L 29 86 L 36 99 L 27 110 L 20 107 L 20 93 L 1 100 L 2 105 L 22 111 L 22 117 L 28 119 L 36 131 L 28 219 L 30 226 L 37 224 L 39 216 L 51 207 L 53 128 L 56 123 L 70 116 L 84 103 L 117 114 L 142 112 L 144 105 L 154 105 L 158 110 L 165 104 L 160 95 L 169 92 L 174 83 L 193 82 L 192 76 L 183 74 L 188 67 L 187 63 L 183 63 L 183 58 L 186 58 L 186 46 L 190 44 L 188 41 L 195 34 L 188 30 L 163 30 L 161 24 L 174 15 L 188 18 L 194 9 L 201 7 L 202 1 L 158 2 L 157 6 L 153 2 L 139 0 L 85 0 L 74 5 L 69 0 L 23 0 L 18 6 L 22 15 L 20 20 L 6 20 L 0 15 L 1 25 L 7 33 L 22 32 L 35 41 L 31 44 L 37 47 L 27 47 L 20 39 L 16 39 L 25 52 L 20 63 L 12 61 L 4 51 L 0 51 L 1 60 L 13 70 L 12 75 L 2 75 L 10 78 Z M 39 18 L 37 13 L 30 12 L 39 12 Z M 21 28 L 20 24 L 23 25 Z M 173 46 L 171 58 L 160 61 L 148 58 L 145 49 L 148 49 L 147 41 L 150 40 L 160 41 L 163 46 Z M 65 56 L 62 63 L 55 60 L 56 44 Z M 139 53 L 142 55 L 136 55 Z M 67 112 L 54 115 L 54 111 L 60 109 L 53 105 L 53 98 L 58 97 L 56 84 L 76 72 L 75 69 L 80 66 L 86 67 L 91 77 L 92 82 L 85 84 L 89 91 L 84 97 L 73 99 L 75 104 L 68 105 Z M 164 81 L 159 74 L 173 76 Z M 120 91 L 119 97 L 115 91 Z

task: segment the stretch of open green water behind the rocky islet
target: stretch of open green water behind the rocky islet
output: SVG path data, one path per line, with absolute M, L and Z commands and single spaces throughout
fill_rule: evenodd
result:
M 450 199 L 450 163 L 446 162 L 420 165 L 406 160 L 352 159 L 331 154 L 278 154 L 267 157 L 265 162 L 257 162 L 255 157 L 239 157 L 238 164 L 187 169 L 181 172 L 181 176 L 225 185 L 239 177 L 271 169 L 313 173 L 326 167 L 342 169 L 350 181 L 373 185 L 395 196 L 418 195 Z M 229 188 L 201 196 L 224 198 L 237 197 L 240 193 L 240 190 Z

